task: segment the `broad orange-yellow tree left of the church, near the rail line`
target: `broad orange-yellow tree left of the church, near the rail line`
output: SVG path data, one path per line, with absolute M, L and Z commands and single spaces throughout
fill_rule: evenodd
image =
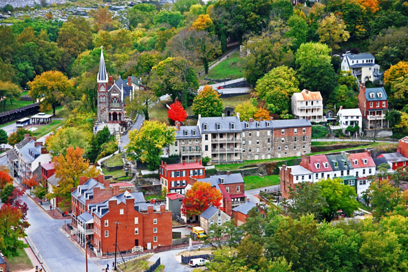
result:
M 59 71 L 47 71 L 35 77 L 34 81 L 28 82 L 30 91 L 28 94 L 34 101 L 40 99 L 43 107 L 50 105 L 55 115 L 56 105 L 64 98 L 71 95 L 72 82 L 67 76 Z

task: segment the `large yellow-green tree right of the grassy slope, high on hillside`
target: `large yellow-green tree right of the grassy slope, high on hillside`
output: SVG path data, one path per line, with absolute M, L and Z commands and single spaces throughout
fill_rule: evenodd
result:
M 292 38 L 286 37 L 289 30 L 283 21 L 270 21 L 264 32 L 250 36 L 244 43 L 246 50 L 250 51 L 244 72 L 248 83 L 255 85 L 270 70 L 293 61 Z

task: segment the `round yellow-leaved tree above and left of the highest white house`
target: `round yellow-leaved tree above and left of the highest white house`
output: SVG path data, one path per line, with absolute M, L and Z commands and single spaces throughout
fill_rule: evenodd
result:
M 346 26 L 343 19 L 336 17 L 334 13 L 330 13 L 319 22 L 319 28 L 316 34 L 320 36 L 320 42 L 326 43 L 332 49 L 338 49 L 341 41 L 347 41 L 350 38 L 350 33 L 345 30 Z

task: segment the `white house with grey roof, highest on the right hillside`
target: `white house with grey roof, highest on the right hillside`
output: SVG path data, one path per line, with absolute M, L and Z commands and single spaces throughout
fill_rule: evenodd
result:
M 380 65 L 375 63 L 376 59 L 372 54 L 353 54 L 346 52 L 341 62 L 342 71 L 350 71 L 359 82 L 378 81 L 383 76 L 380 73 Z

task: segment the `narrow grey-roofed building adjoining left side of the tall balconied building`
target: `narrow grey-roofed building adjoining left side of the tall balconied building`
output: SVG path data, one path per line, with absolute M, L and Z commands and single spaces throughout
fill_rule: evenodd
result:
M 175 123 L 175 143 L 169 147 L 170 155 L 180 155 L 181 160 L 193 163 L 202 160 L 202 136 L 197 125 L 183 126 L 180 122 Z

